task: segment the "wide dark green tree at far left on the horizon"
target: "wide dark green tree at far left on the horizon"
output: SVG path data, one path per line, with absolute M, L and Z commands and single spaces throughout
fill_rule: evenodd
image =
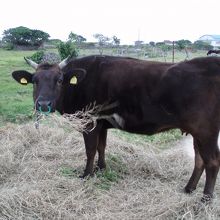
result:
M 32 30 L 27 27 L 10 28 L 3 32 L 3 42 L 15 46 L 41 46 L 50 35 L 40 30 Z

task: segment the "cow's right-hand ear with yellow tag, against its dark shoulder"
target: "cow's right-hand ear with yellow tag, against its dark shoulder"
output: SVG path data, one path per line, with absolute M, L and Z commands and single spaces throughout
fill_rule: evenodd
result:
M 71 85 L 79 84 L 86 76 L 86 70 L 81 68 L 75 68 L 71 72 L 64 75 L 65 82 Z

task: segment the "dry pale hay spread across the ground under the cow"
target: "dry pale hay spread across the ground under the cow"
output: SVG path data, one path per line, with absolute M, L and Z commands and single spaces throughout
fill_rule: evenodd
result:
M 108 163 L 120 172 L 110 188 L 78 178 L 85 165 L 82 137 L 68 127 L 33 123 L 0 130 L 0 219 L 218 219 L 220 201 L 200 204 L 203 180 L 182 189 L 193 160 L 180 148 L 156 152 L 110 133 Z M 65 175 L 71 169 L 71 175 Z M 69 171 L 68 171 L 69 172 Z M 215 194 L 220 196 L 219 179 Z M 217 197 L 216 196 L 216 197 Z

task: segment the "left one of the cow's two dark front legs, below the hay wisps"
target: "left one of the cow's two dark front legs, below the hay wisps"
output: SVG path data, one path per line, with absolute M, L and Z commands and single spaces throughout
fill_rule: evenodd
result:
M 83 133 L 87 162 L 86 162 L 86 168 L 84 170 L 84 174 L 81 176 L 82 178 L 89 175 L 91 176 L 93 175 L 94 159 L 99 143 L 99 135 L 100 135 L 100 126 L 98 125 L 91 132 Z

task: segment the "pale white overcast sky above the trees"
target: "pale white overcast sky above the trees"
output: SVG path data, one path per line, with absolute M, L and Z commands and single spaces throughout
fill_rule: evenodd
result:
M 18 26 L 63 41 L 70 32 L 88 42 L 115 35 L 121 44 L 220 35 L 220 0 L 3 0 L 0 7 L 0 38 Z

